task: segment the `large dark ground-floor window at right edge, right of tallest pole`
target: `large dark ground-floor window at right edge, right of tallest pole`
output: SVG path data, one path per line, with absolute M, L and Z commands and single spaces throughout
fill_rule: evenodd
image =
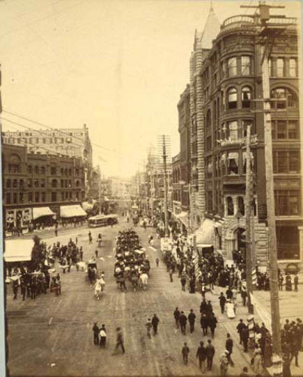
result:
M 300 259 L 300 240 L 297 226 L 277 226 L 278 259 Z

